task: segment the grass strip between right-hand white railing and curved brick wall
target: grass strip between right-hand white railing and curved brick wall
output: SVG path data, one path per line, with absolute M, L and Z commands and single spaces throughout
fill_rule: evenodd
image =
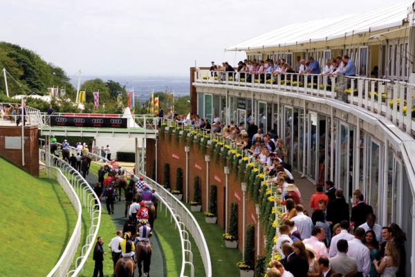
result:
M 190 210 L 189 204 L 186 204 L 186 207 Z M 225 231 L 219 225 L 206 223 L 204 213 L 195 211 L 192 214 L 199 223 L 208 244 L 210 261 L 212 262 L 212 276 L 240 276 L 237 262 L 242 260 L 242 254 L 238 249 L 231 249 L 225 246 L 225 240 L 222 237 Z

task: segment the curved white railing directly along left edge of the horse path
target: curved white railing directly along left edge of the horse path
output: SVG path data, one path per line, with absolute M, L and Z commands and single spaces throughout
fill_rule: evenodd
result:
M 44 151 L 39 149 L 39 157 L 44 157 L 44 154 Z M 72 174 L 71 186 L 74 188 L 77 195 L 80 195 L 80 201 L 82 202 L 83 207 L 86 208 L 86 211 L 88 211 L 89 217 L 91 218 L 91 227 L 89 228 L 88 236 L 85 238 L 85 245 L 82 246 L 81 256 L 75 260 L 75 269 L 71 271 L 62 270 L 60 271 L 61 274 L 59 275 L 55 275 L 53 272 L 50 272 L 48 276 L 77 276 L 81 271 L 82 274 L 84 273 L 85 262 L 88 261 L 88 256 L 93 250 L 93 247 L 95 246 L 95 240 L 98 237 L 98 230 L 100 229 L 101 223 L 101 202 L 99 196 L 95 194 L 95 191 L 93 191 L 93 188 L 89 185 L 89 183 L 86 182 L 82 175 L 73 169 L 70 164 L 54 155 L 50 155 L 48 160 L 51 164 L 55 164 L 56 161 L 56 166 L 59 166 L 59 168 L 61 168 L 67 175 Z M 98 204 L 95 204 L 95 200 L 97 200 Z M 95 210 L 95 207 L 98 209 Z M 79 243 L 80 242 L 78 241 L 76 245 L 72 246 L 75 248 L 75 252 Z M 73 262 L 73 257 L 68 259 L 66 262 L 71 265 Z

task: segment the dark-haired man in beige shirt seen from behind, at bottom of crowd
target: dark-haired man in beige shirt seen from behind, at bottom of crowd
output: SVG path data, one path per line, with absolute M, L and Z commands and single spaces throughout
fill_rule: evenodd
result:
M 358 271 L 358 264 L 355 258 L 347 256 L 349 251 L 349 243 L 347 240 L 339 240 L 337 243 L 338 254 L 333 258 L 329 258 L 330 267 L 336 272 L 346 275 L 351 270 Z

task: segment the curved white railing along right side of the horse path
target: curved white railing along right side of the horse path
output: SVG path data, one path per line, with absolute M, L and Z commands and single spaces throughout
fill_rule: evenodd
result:
M 75 147 L 70 147 L 71 150 L 76 151 Z M 100 155 L 95 155 L 93 153 L 88 153 L 88 155 L 92 156 L 95 160 L 102 159 L 102 163 L 104 162 L 110 162 L 104 157 L 100 157 Z M 128 171 L 124 169 L 127 173 L 130 175 L 133 175 L 131 171 Z M 194 238 L 194 241 L 196 242 L 197 247 L 199 248 L 199 251 L 201 253 L 201 257 L 203 260 L 203 265 L 205 266 L 205 274 L 206 277 L 212 277 L 212 265 L 210 262 L 210 254 L 208 245 L 206 244 L 205 237 L 203 236 L 203 232 L 201 230 L 201 227 L 199 227 L 199 224 L 196 221 L 196 218 L 192 216 L 192 213 L 185 207 L 185 205 L 179 201 L 172 193 L 169 193 L 164 187 L 162 187 L 160 184 L 154 182 L 154 180 L 151 180 L 145 175 L 142 175 L 146 182 L 153 188 L 157 188 L 157 193 L 160 196 L 160 202 L 166 205 L 167 209 L 169 209 L 170 213 L 172 214 L 172 218 L 174 218 L 174 221 L 176 223 L 176 226 L 178 226 L 181 236 L 181 244 L 182 244 L 182 254 L 183 254 L 183 260 L 182 260 L 182 268 L 181 268 L 181 276 L 184 276 L 185 271 L 185 265 L 190 265 L 191 267 L 191 274 L 192 277 L 194 276 L 194 266 L 193 266 L 193 254 L 192 254 L 192 248 L 189 240 L 189 234 L 185 229 L 188 230 L 188 232 L 192 235 Z M 134 177 L 138 178 L 138 175 L 134 175 Z M 160 209 L 161 209 L 160 205 Z M 166 216 L 167 216 L 167 210 L 166 210 Z M 189 255 L 189 260 L 185 259 L 185 254 Z

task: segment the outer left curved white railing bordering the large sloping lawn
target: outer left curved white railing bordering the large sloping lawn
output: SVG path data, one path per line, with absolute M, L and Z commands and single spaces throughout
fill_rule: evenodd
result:
M 50 169 L 49 166 L 46 168 Z M 73 230 L 72 236 L 68 241 L 68 245 L 64 250 L 61 258 L 57 261 L 55 267 L 49 272 L 48 276 L 65 276 L 66 272 L 68 272 L 69 267 L 71 267 L 71 263 L 73 258 L 75 257 L 77 247 L 80 244 L 81 240 L 81 231 L 82 231 L 82 206 L 80 198 L 78 198 L 77 193 L 73 189 L 71 183 L 68 181 L 66 176 L 62 173 L 60 169 L 55 167 L 52 168 L 56 171 L 56 180 L 58 184 L 64 189 L 66 195 L 68 195 L 69 200 L 71 201 L 73 208 L 77 213 L 77 220 L 75 229 Z

